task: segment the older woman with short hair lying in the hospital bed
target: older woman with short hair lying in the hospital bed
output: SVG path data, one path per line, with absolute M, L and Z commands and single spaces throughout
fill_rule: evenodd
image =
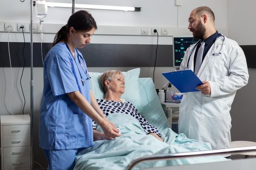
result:
M 124 93 L 124 77 L 118 70 L 108 70 L 100 76 L 100 86 L 105 94 L 104 99 L 98 99 L 98 105 L 103 111 L 105 116 L 112 113 L 128 114 L 138 119 L 141 127 L 146 134 L 155 136 L 158 140 L 161 137 L 158 133 L 158 129 L 151 125 L 146 119 L 144 119 L 139 113 L 132 102 L 126 102 L 121 99 L 121 95 Z M 93 128 L 96 129 L 97 123 L 93 121 Z M 104 139 L 104 134 L 94 131 L 94 140 Z

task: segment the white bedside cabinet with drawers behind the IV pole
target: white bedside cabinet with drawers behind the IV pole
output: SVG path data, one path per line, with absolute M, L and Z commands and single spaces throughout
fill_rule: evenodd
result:
M 0 116 L 1 170 L 30 170 L 30 116 Z

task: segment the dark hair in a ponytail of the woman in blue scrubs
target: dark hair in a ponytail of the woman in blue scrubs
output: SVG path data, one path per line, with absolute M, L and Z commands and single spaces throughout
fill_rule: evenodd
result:
M 90 31 L 93 28 L 97 29 L 97 24 L 92 15 L 87 11 L 78 11 L 69 17 L 68 23 L 61 27 L 55 35 L 53 46 L 60 41 L 67 42 L 70 27 L 73 27 L 76 31 Z

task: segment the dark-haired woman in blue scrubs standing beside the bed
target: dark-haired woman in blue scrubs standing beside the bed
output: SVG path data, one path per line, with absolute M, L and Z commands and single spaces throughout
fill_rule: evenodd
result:
M 79 149 L 93 145 L 92 119 L 101 126 L 105 138 L 120 136 L 90 91 L 90 76 L 77 50 L 91 42 L 96 29 L 91 14 L 74 13 L 55 35 L 46 55 L 39 146 L 46 155 L 48 170 L 73 170 Z

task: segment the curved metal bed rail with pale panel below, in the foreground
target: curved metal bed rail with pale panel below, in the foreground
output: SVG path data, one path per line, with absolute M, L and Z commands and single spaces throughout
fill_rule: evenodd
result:
M 133 170 L 133 168 L 146 161 L 156 161 L 156 160 L 171 160 L 180 159 L 187 157 L 198 157 L 198 156 L 209 156 L 209 155 L 220 155 L 220 154 L 249 154 L 256 152 L 256 146 L 250 147 L 239 147 L 239 148 L 229 148 L 220 149 L 212 151 L 200 151 L 200 152 L 190 152 L 190 153 L 169 153 L 169 154 L 159 154 L 144 156 L 133 160 L 125 170 Z M 254 154 L 253 154 L 254 155 Z M 232 161 L 221 161 L 221 162 L 210 162 L 204 164 L 193 164 L 186 166 L 177 167 L 161 167 L 161 168 L 147 168 L 143 170 L 255 170 L 256 167 L 256 157 L 250 159 L 237 159 Z

